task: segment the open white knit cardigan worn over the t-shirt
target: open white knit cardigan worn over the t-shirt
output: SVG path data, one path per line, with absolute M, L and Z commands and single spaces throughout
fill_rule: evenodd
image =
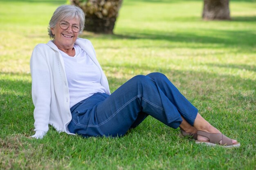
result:
M 110 94 L 108 80 L 96 59 L 92 43 L 89 40 L 78 38 L 75 44 L 86 51 L 92 61 L 99 67 L 101 70 L 100 83 Z M 49 41 L 47 44 L 38 44 L 34 48 L 30 59 L 30 70 L 32 100 L 35 106 L 34 131 L 36 131 L 36 134 L 32 137 L 42 138 L 49 129 L 48 124 L 59 132 L 72 134 L 67 128 L 72 116 L 64 61 L 53 41 Z

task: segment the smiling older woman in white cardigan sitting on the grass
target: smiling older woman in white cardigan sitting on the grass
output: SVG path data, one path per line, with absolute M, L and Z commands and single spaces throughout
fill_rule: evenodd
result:
M 203 119 L 161 73 L 137 75 L 110 95 L 108 80 L 89 40 L 78 38 L 85 15 L 76 6 L 56 9 L 49 22 L 50 40 L 32 53 L 32 99 L 35 135 L 48 124 L 59 132 L 83 137 L 123 136 L 148 115 L 184 136 L 209 146 L 238 147 Z

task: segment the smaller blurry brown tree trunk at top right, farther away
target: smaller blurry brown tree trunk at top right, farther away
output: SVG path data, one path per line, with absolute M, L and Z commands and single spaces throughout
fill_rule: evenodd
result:
M 204 0 L 203 19 L 230 20 L 229 0 Z

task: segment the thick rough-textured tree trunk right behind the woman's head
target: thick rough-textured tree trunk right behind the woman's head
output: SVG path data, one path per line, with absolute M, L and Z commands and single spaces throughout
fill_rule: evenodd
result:
M 112 34 L 122 0 L 70 0 L 85 13 L 85 30 Z

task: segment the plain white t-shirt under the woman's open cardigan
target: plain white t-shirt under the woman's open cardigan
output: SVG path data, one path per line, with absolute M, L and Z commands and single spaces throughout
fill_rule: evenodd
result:
M 65 64 L 70 93 L 70 108 L 94 93 L 106 93 L 106 88 L 100 84 L 101 72 L 99 67 L 79 45 L 75 44 L 74 49 L 76 51 L 74 57 L 59 50 Z

